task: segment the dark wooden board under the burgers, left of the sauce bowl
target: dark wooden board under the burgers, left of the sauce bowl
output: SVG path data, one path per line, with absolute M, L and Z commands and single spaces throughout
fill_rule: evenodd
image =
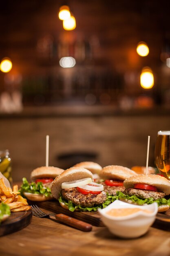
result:
M 82 220 L 87 222 L 93 226 L 104 227 L 104 223 L 102 222 L 100 215 L 97 211 L 69 211 L 61 207 L 58 201 L 44 201 L 44 202 L 36 202 L 39 207 L 44 209 L 53 211 L 55 213 L 63 213 L 67 216 L 73 217 L 77 220 Z

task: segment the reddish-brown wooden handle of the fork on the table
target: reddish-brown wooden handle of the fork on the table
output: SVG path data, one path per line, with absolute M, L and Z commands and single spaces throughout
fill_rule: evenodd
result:
M 80 229 L 82 231 L 91 231 L 92 230 L 92 225 L 81 221 L 81 220 L 77 220 L 75 218 L 71 218 L 69 216 L 66 216 L 62 213 L 60 214 L 56 214 L 55 215 L 56 220 L 60 220 L 61 222 L 64 222 L 65 224 L 71 226 L 71 227 L 75 227 L 76 229 Z

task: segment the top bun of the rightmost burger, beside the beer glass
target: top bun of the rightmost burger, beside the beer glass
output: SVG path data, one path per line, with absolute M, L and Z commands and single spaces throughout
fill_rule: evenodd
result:
M 165 177 L 156 174 L 139 174 L 136 176 L 132 176 L 124 181 L 124 187 L 133 188 L 134 184 L 146 184 L 151 186 L 156 186 L 158 191 L 162 191 L 166 193 L 166 195 L 170 194 L 170 181 Z

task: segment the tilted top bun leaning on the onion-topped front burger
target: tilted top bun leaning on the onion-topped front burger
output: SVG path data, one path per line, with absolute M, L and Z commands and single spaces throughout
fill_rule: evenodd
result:
M 55 178 L 51 186 L 51 193 L 54 198 L 60 198 L 60 192 L 62 191 L 62 183 L 69 182 L 73 180 L 80 180 L 84 178 L 91 178 L 93 180 L 93 174 L 85 168 L 82 167 L 71 167 L 61 173 Z

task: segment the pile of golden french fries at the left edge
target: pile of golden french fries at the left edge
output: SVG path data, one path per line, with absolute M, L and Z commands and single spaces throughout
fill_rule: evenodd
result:
M 0 179 L 0 203 L 8 204 L 12 212 L 16 211 L 29 211 L 31 206 L 25 198 L 18 192 L 18 185 L 13 186 L 13 189 L 7 188 L 4 184 L 4 178 Z

